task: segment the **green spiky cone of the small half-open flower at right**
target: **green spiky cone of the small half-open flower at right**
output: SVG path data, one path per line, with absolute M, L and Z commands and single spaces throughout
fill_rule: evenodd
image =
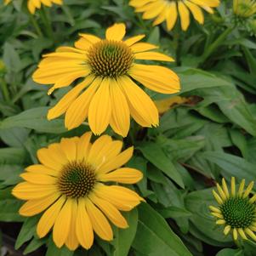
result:
M 248 198 L 229 198 L 221 205 L 220 211 L 232 228 L 247 228 L 256 218 L 256 206 Z

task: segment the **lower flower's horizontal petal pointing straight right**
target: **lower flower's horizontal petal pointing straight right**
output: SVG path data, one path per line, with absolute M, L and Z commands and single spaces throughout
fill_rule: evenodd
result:
M 108 174 L 99 175 L 100 181 L 116 181 L 125 184 L 134 184 L 143 178 L 143 174 L 134 168 L 120 168 Z

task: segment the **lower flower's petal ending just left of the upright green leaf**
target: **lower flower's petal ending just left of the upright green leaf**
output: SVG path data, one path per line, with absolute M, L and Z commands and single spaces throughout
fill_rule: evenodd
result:
M 101 213 L 90 200 L 87 200 L 85 205 L 95 233 L 100 236 L 101 239 L 111 241 L 113 239 L 113 231 L 103 213 Z

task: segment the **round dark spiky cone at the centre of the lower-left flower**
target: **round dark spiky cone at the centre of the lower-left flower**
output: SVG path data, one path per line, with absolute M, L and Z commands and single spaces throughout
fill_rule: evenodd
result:
M 88 196 L 96 183 L 94 170 L 86 162 L 69 162 L 62 168 L 58 186 L 68 197 Z

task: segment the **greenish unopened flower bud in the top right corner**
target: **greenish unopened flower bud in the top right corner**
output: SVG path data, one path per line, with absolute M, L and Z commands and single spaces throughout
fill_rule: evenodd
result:
M 233 11 L 236 16 L 248 18 L 256 14 L 255 0 L 233 0 Z

